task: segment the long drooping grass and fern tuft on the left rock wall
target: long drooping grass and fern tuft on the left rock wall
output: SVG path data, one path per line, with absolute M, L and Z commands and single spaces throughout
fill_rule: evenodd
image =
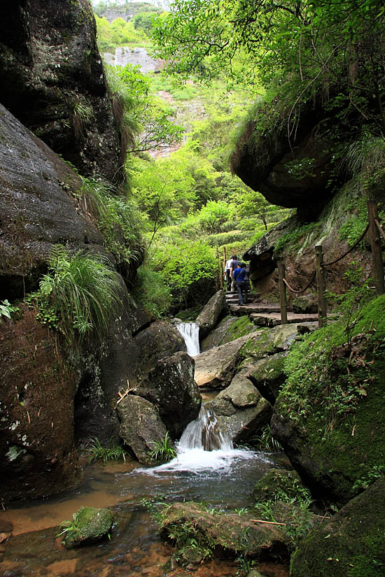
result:
M 38 291 L 29 295 L 38 309 L 37 318 L 70 341 L 87 333 L 99 336 L 109 329 L 111 314 L 120 304 L 120 282 L 99 255 L 69 255 L 62 246 L 52 249 L 48 273 Z

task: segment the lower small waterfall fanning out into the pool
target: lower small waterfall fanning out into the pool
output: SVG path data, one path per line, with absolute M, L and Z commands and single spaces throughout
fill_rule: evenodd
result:
M 188 449 L 229 451 L 232 450 L 232 440 L 219 429 L 214 411 L 202 405 L 197 419 L 184 430 L 178 448 L 180 452 Z

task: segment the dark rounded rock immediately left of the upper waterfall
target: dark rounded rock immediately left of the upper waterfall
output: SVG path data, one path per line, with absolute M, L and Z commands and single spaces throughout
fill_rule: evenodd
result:
M 134 337 L 137 350 L 140 351 L 137 378 L 142 380 L 155 364 L 174 352 L 186 351 L 183 336 L 172 322 L 157 320 Z

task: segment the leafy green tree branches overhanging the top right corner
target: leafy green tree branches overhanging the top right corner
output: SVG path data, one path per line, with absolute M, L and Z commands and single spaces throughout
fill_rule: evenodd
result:
M 153 38 L 170 73 L 258 79 L 290 101 L 289 115 L 320 90 L 342 92 L 342 115 L 384 132 L 384 24 L 382 0 L 175 0 Z

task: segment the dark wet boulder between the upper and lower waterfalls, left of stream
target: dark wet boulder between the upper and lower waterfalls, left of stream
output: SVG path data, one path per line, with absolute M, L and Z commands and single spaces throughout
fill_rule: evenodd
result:
M 173 439 L 181 436 L 200 411 L 202 399 L 194 380 L 194 365 L 187 352 L 176 352 L 158 361 L 138 390 L 158 408 Z

